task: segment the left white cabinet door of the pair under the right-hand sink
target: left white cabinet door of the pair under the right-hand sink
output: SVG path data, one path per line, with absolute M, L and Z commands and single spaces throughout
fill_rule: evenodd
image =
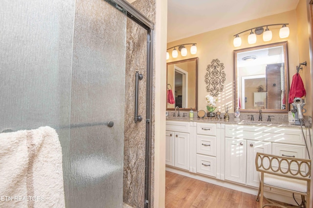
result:
M 246 140 L 225 139 L 225 180 L 246 184 Z

